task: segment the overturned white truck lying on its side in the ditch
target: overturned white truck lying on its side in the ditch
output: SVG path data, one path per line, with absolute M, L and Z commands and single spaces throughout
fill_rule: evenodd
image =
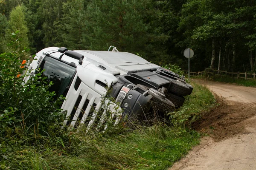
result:
M 103 124 L 107 112 L 116 124 L 124 116 L 134 119 L 153 110 L 164 113 L 182 106 L 184 96 L 193 90 L 183 76 L 115 47 L 112 51 L 45 48 L 29 65 L 25 82 L 43 69 L 42 76 L 54 83 L 49 90 L 66 97 L 61 108 L 67 113 L 64 124 L 71 126 Z

